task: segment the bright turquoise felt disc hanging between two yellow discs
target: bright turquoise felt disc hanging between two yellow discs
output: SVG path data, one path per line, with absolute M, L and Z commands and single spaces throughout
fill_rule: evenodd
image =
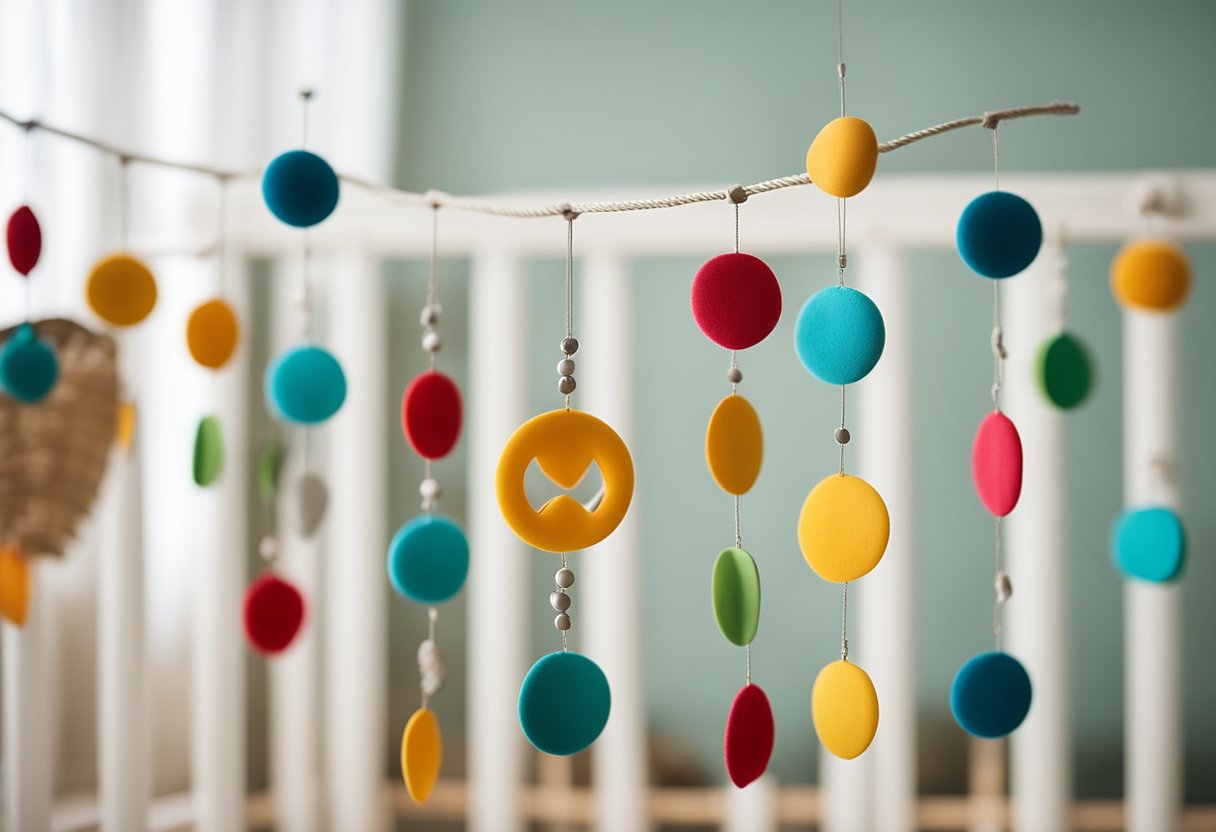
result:
M 829 286 L 812 294 L 798 313 L 794 352 L 806 370 L 828 384 L 852 384 L 883 355 L 883 313 L 863 292 Z

